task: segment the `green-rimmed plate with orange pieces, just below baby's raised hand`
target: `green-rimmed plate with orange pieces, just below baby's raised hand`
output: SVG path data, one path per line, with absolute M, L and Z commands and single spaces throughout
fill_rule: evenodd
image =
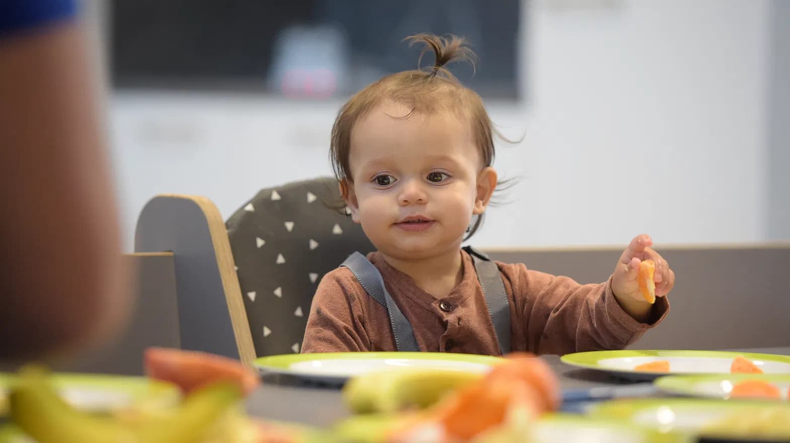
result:
M 787 355 L 726 351 L 592 351 L 562 356 L 562 362 L 585 369 L 602 370 L 619 377 L 653 380 L 667 373 L 634 370 L 635 366 L 668 360 L 671 374 L 729 374 L 732 359 L 743 356 L 766 374 L 790 374 Z

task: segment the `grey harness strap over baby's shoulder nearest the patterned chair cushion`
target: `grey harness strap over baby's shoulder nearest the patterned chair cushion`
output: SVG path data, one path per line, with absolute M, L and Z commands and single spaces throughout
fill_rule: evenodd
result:
M 350 270 L 359 284 L 368 295 L 373 297 L 380 305 L 384 306 L 389 315 L 389 324 L 392 325 L 395 344 L 398 351 L 419 351 L 417 340 L 414 338 L 412 324 L 397 307 L 392 296 L 384 286 L 381 272 L 359 252 L 352 253 L 342 265 Z

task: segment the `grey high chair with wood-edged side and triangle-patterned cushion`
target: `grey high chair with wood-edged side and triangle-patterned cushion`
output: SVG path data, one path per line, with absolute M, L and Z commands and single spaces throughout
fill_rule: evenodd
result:
M 261 190 L 227 225 L 205 197 L 160 195 L 135 232 L 136 253 L 174 255 L 180 346 L 247 363 L 299 352 L 322 276 L 371 250 L 334 178 Z

